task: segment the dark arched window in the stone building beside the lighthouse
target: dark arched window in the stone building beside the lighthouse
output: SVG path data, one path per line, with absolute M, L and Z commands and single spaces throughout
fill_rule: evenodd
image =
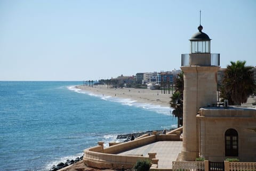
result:
M 225 132 L 225 156 L 238 156 L 238 133 L 235 129 Z

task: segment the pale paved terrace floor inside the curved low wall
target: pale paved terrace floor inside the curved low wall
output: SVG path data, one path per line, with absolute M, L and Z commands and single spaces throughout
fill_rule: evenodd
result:
M 143 154 L 143 156 L 148 156 L 149 152 L 156 152 L 156 158 L 159 160 L 158 168 L 172 168 L 172 161 L 176 161 L 181 150 L 182 141 L 158 141 L 119 154 Z

